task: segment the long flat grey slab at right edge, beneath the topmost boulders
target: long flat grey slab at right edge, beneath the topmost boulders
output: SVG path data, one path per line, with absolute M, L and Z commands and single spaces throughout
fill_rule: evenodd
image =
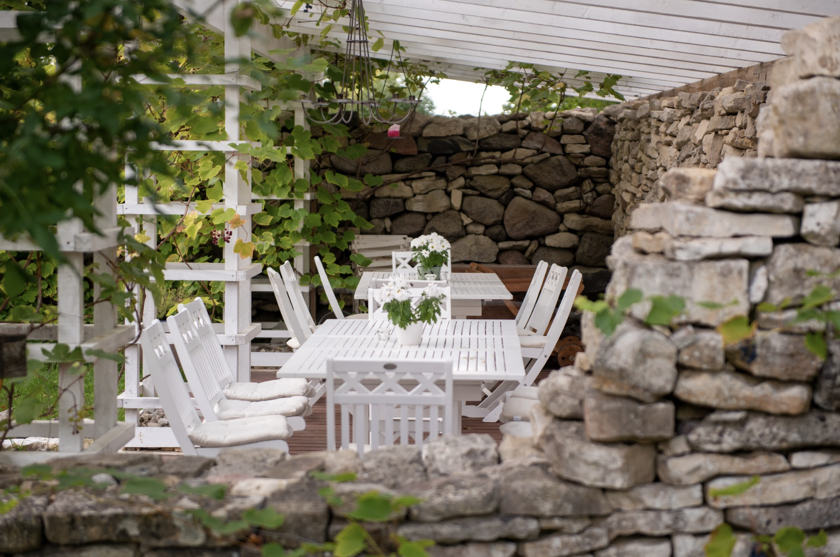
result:
M 801 195 L 837 197 L 840 196 L 840 162 L 806 159 L 726 159 L 717 167 L 714 188 L 770 193 L 792 191 Z

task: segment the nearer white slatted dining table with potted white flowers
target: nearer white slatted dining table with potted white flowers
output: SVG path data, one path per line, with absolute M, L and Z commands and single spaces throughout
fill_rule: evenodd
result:
M 325 379 L 328 357 L 388 359 L 445 359 L 454 362 L 453 431 L 460 431 L 465 403 L 484 396 L 481 384 L 525 377 L 522 347 L 513 320 L 439 320 L 424 325 L 417 346 L 402 346 L 396 333 L 381 340 L 383 321 L 327 320 L 283 364 L 277 377 Z M 471 414 L 467 414 L 471 415 Z

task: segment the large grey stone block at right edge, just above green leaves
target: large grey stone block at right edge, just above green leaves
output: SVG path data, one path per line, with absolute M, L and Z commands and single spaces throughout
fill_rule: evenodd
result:
M 817 284 L 840 291 L 840 277 L 831 273 L 840 268 L 840 249 L 811 246 L 806 243 L 781 244 L 774 247 L 767 263 L 768 288 L 764 301 L 780 305 L 785 299 L 796 305 Z M 811 272 L 822 276 L 811 275 Z M 828 275 L 828 276 L 826 276 Z

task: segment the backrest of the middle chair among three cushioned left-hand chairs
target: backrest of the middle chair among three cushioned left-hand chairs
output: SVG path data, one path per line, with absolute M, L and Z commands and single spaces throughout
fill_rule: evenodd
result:
M 178 352 L 178 359 L 186 375 L 186 383 L 190 384 L 192 396 L 196 398 L 204 419 L 214 422 L 218 419 L 216 404 L 224 398 L 217 378 L 218 372 L 215 371 L 220 362 L 198 337 L 198 331 L 192 324 L 188 311 L 170 315 L 166 322 L 169 323 L 172 344 Z

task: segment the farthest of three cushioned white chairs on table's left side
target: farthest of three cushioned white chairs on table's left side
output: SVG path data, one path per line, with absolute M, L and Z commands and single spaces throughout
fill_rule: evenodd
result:
M 285 377 L 262 383 L 237 382 L 234 371 L 224 357 L 216 331 L 213 331 L 213 324 L 210 322 L 210 315 L 207 313 L 204 301 L 196 298 L 189 304 L 179 304 L 178 311 L 186 312 L 192 325 L 195 326 L 198 339 L 202 342 L 204 351 L 209 357 L 209 370 L 216 377 L 225 398 L 256 402 L 294 396 L 308 397 L 311 394 L 309 383 L 302 378 Z M 201 371 L 205 372 L 203 369 Z

